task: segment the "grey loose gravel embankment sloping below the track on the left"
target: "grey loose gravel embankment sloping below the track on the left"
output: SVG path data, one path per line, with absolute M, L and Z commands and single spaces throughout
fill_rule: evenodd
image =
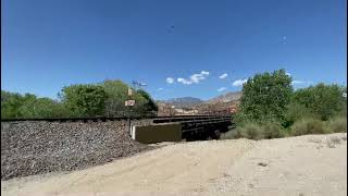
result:
M 153 148 L 130 138 L 127 121 L 1 122 L 1 180 L 80 170 Z

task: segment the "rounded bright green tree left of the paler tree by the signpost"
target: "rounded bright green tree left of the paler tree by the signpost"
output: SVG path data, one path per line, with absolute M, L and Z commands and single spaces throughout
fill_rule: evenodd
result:
M 71 85 L 62 89 L 64 106 L 77 117 L 103 115 L 108 95 L 102 86 Z

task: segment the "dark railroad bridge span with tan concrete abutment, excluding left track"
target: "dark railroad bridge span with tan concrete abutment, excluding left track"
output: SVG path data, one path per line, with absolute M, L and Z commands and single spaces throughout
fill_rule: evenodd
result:
M 142 143 L 219 139 L 229 126 L 234 126 L 231 115 L 162 117 L 153 119 L 151 125 L 132 127 L 130 135 Z

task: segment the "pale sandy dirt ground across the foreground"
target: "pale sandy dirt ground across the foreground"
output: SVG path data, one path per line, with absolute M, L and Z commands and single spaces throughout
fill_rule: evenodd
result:
M 347 134 L 207 140 L 1 182 L 2 195 L 347 195 Z M 162 144 L 163 145 L 163 144 Z

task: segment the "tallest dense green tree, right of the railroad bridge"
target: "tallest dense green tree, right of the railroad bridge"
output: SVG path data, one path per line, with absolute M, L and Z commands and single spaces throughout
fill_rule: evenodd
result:
M 285 122 L 293 93 L 291 77 L 284 70 L 256 74 L 243 85 L 240 112 L 237 120 Z

